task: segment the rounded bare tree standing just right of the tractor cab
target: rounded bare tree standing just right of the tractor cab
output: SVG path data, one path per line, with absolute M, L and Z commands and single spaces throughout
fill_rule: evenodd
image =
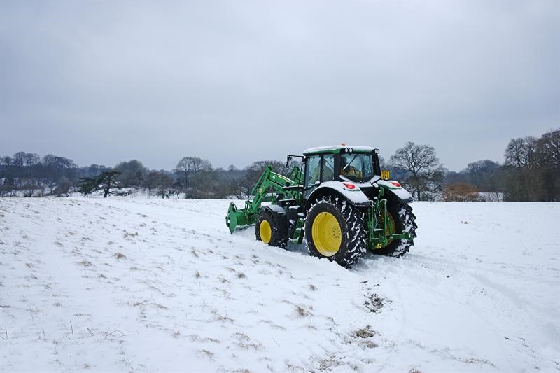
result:
M 432 146 L 408 142 L 404 148 L 397 149 L 391 155 L 389 162 L 392 167 L 405 171 L 403 183 L 419 201 L 423 193 L 435 192 L 441 188 L 445 170 Z

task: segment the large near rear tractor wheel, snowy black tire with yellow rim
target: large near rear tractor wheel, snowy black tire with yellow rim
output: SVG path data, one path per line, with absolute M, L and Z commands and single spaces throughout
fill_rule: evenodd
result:
M 305 218 L 305 246 L 311 255 L 351 267 L 367 250 L 364 214 L 342 197 L 311 205 Z

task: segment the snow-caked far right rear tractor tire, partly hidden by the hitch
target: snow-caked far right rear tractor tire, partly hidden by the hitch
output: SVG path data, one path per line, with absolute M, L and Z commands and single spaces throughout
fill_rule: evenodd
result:
M 402 204 L 396 199 L 388 199 L 387 212 L 390 215 L 389 220 L 393 225 L 393 232 L 408 232 L 416 238 L 416 228 L 418 227 L 415 222 L 416 216 L 412 213 L 412 207 L 409 204 Z M 393 239 L 387 246 L 376 248 L 373 253 L 400 258 L 410 250 L 412 245 L 414 242 L 407 239 Z

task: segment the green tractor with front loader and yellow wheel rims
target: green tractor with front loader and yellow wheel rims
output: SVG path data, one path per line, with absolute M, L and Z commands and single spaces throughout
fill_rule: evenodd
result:
M 288 155 L 283 176 L 265 167 L 244 209 L 230 204 L 230 232 L 255 226 L 257 240 L 285 248 L 305 241 L 311 255 L 351 267 L 366 251 L 401 256 L 416 237 L 412 195 L 381 171 L 379 149 L 323 146 Z M 265 202 L 263 204 L 263 202 Z M 266 203 L 268 202 L 268 203 Z

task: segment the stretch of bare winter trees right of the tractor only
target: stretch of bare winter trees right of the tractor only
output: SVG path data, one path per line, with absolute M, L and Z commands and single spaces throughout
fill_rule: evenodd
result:
M 428 145 L 407 143 L 385 165 L 417 200 L 560 201 L 560 129 L 511 139 L 502 164 L 492 160 L 447 171 Z

